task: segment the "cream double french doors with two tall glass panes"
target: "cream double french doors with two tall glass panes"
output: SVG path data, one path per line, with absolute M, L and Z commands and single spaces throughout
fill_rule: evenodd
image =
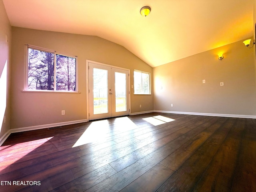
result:
M 129 70 L 88 62 L 89 120 L 130 113 Z

